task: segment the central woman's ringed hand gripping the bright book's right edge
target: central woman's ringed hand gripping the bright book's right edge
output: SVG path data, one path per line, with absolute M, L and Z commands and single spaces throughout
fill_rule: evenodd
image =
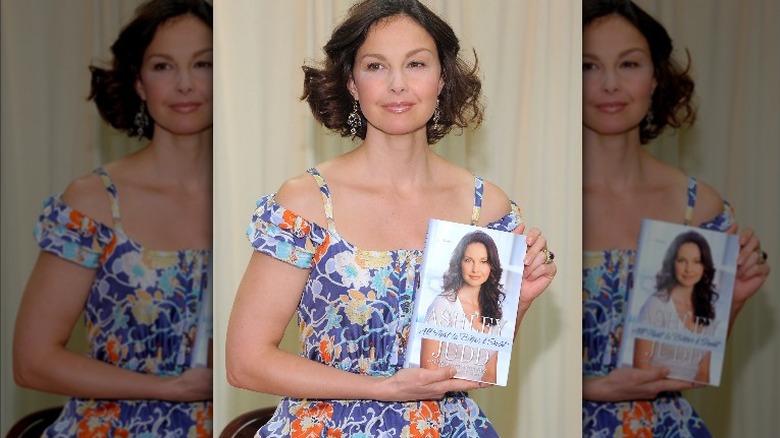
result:
M 522 234 L 525 230 L 525 224 L 520 224 L 515 229 L 515 233 Z M 520 308 L 522 314 L 528 310 L 531 303 L 547 289 L 558 272 L 558 266 L 554 261 L 547 261 L 547 239 L 542 236 L 538 228 L 531 228 L 525 236 L 528 249 L 525 254 L 525 270 L 523 271 L 523 285 L 520 294 Z M 552 257 L 552 254 L 551 254 Z M 520 310 L 518 310 L 520 312 Z M 522 314 L 518 316 L 522 319 Z

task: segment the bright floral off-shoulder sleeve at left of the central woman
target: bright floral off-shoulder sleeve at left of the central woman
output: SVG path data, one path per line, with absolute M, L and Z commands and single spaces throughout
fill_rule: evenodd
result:
M 277 204 L 274 196 L 257 201 L 247 238 L 255 251 L 308 269 L 327 244 L 327 231 Z

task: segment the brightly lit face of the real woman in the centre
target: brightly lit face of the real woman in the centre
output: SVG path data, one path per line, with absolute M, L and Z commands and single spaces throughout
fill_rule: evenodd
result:
M 422 131 L 436 108 L 444 81 L 436 43 L 409 17 L 373 25 L 355 55 L 348 88 L 368 120 L 368 132 Z

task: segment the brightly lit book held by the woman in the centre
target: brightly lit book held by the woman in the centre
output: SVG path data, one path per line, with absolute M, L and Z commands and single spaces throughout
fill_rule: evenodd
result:
M 524 235 L 431 219 L 404 366 L 506 386 L 525 252 Z

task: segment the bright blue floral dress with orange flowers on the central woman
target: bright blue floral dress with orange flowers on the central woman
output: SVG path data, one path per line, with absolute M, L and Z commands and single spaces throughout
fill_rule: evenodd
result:
M 309 280 L 298 305 L 300 355 L 340 370 L 389 377 L 406 354 L 421 250 L 368 251 L 336 230 L 330 191 L 316 169 L 327 228 L 277 204 L 257 202 L 248 229 L 255 250 L 302 269 Z M 479 219 L 482 180 L 475 178 L 472 222 Z M 491 228 L 514 230 L 512 211 Z M 316 385 L 316 382 L 313 382 Z M 257 437 L 493 437 L 496 431 L 466 393 L 442 400 L 307 400 L 285 397 Z

